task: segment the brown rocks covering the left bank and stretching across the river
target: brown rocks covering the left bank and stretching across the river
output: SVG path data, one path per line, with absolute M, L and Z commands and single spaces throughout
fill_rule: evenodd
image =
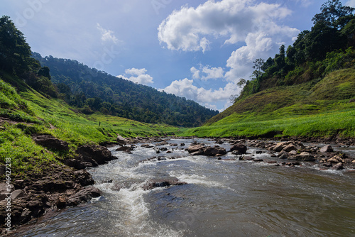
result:
M 294 138 L 280 142 L 273 140 L 249 140 L 238 138 L 210 138 L 218 145 L 206 145 L 193 142 L 168 143 L 163 138 L 122 138 L 119 136 L 117 143 L 102 145 L 120 145 L 117 150 L 131 153 L 140 144 L 143 148 L 154 149 L 158 153 L 174 153 L 176 149 L 185 149 L 190 155 L 206 155 L 217 160 L 245 160 L 253 162 L 267 162 L 276 166 L 297 166 L 302 162 L 313 162 L 323 170 L 355 169 L 355 157 L 353 155 L 335 152 L 333 147 L 346 147 L 354 145 L 352 140 L 312 140 Z M 68 144 L 52 136 L 33 136 L 36 143 L 48 149 L 68 150 Z M 325 143 L 328 145 L 305 145 L 309 142 Z M 268 153 L 272 159 L 256 158 L 249 153 L 250 148 L 257 148 L 256 154 Z M 159 162 L 164 159 L 175 159 L 174 156 L 147 158 L 141 162 Z M 229 155 L 224 158 L 224 155 Z M 234 155 L 231 159 L 230 155 Z M 178 158 L 178 157 L 176 157 Z M 26 180 L 11 180 L 10 191 L 6 183 L 0 183 L 0 218 L 5 219 L 6 206 L 11 199 L 11 229 L 18 225 L 35 221 L 48 211 L 56 211 L 67 206 L 76 206 L 82 202 L 99 197 L 101 191 L 92 187 L 94 180 L 84 170 L 87 167 L 96 167 L 116 159 L 111 152 L 101 145 L 82 145 L 75 150 L 75 156 L 60 162 L 47 165 L 43 172 L 38 174 L 31 172 L 26 174 Z M 151 180 L 145 189 L 155 187 L 170 187 L 185 184 L 175 178 L 170 180 Z M 6 233 L 2 228 L 1 234 Z

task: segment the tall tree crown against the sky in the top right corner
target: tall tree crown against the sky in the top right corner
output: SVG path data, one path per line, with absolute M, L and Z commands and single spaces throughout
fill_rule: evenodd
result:
M 339 0 L 328 0 L 322 4 L 320 10 L 322 12 L 312 18 L 313 23 L 323 22 L 332 28 L 339 28 L 346 25 L 346 16 L 351 16 L 355 9 L 343 6 Z

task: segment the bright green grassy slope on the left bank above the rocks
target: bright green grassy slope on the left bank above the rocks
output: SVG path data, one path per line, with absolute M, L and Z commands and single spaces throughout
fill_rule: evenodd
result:
M 0 117 L 16 123 L 0 123 L 0 165 L 11 158 L 12 177 L 26 177 L 26 172 L 42 171 L 43 165 L 70 158 L 77 146 L 114 141 L 121 136 L 168 136 L 180 133 L 180 128 L 140 123 L 126 118 L 77 113 L 60 99 L 47 99 L 37 92 L 16 89 L 0 79 Z M 100 124 L 101 123 L 101 124 Z M 99 126 L 100 124 L 100 126 Z M 53 128 L 53 126 L 55 128 Z M 33 142 L 31 134 L 44 133 L 70 143 L 70 152 L 45 150 Z M 4 179 L 0 177 L 0 180 Z

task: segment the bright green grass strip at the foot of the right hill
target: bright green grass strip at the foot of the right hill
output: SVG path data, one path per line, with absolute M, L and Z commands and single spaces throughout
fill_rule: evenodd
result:
M 235 137 L 254 138 L 300 136 L 300 137 L 355 137 L 355 110 L 334 111 L 324 114 L 280 118 L 268 121 L 256 121 L 253 117 L 244 120 L 227 117 L 212 126 L 192 128 L 184 136 L 199 137 Z M 249 117 L 251 118 L 251 117 Z M 231 122 L 233 121 L 234 122 Z

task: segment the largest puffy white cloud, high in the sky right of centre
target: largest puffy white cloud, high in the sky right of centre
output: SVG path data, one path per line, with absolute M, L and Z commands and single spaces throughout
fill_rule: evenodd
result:
M 158 39 L 170 50 L 203 52 L 217 38 L 225 39 L 224 45 L 244 43 L 226 61 L 230 70 L 225 77 L 234 82 L 249 77 L 256 58 L 269 57 L 278 53 L 281 44 L 293 43 L 300 31 L 279 23 L 291 13 L 280 4 L 253 0 L 207 1 L 196 8 L 186 5 L 160 23 Z

